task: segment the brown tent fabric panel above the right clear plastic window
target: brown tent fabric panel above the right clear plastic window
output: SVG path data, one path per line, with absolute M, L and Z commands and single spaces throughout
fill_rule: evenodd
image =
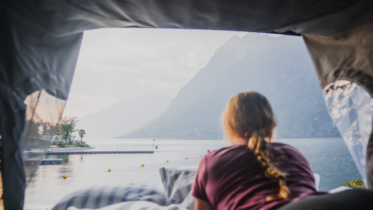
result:
M 330 37 L 303 34 L 303 39 L 322 88 L 349 80 L 373 96 L 373 23 Z

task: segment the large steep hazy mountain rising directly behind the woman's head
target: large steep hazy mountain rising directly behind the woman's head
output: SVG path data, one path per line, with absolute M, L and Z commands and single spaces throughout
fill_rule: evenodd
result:
M 272 104 L 277 137 L 339 136 L 303 39 L 248 33 L 219 47 L 159 117 L 121 137 L 222 138 L 220 116 L 244 90 Z

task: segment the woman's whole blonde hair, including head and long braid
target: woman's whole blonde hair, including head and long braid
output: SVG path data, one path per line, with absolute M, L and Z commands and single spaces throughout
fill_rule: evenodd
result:
M 286 186 L 285 174 L 270 162 L 265 138 L 272 137 L 276 126 L 272 108 L 266 97 L 257 92 L 242 92 L 229 101 L 223 113 L 223 126 L 228 136 L 248 139 L 248 149 L 253 152 L 257 162 L 268 179 L 279 182 L 277 197 L 268 196 L 267 201 L 285 199 L 290 194 Z

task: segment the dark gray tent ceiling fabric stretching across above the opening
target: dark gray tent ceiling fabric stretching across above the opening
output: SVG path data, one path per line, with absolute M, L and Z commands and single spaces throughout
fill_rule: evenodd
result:
M 373 19 L 369 0 L 15 0 L 4 6 L 56 35 L 101 27 L 331 34 Z

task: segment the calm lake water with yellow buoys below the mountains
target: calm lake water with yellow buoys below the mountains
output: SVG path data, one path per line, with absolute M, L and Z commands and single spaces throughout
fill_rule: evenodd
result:
M 152 150 L 152 140 L 86 140 L 93 151 Z M 341 138 L 278 139 L 299 149 L 321 176 L 320 190 L 360 178 Z M 39 166 L 26 188 L 25 209 L 51 209 L 65 195 L 97 184 L 160 182 L 163 166 L 198 165 L 207 150 L 229 145 L 225 140 L 156 140 L 154 154 L 47 155 L 62 158 L 60 165 Z M 185 159 L 188 157 L 188 159 Z M 169 163 L 166 163 L 169 160 Z M 141 164 L 145 164 L 141 167 Z M 107 172 L 107 169 L 112 172 Z M 62 179 L 67 175 L 67 179 Z

